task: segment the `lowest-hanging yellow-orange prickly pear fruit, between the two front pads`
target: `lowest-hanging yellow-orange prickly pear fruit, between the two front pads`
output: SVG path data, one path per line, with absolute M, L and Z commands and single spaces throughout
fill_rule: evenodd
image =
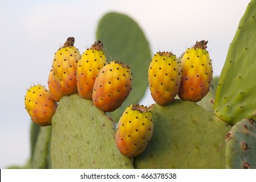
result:
M 123 112 L 116 131 L 120 153 L 135 157 L 142 153 L 153 135 L 154 123 L 148 107 L 130 105 Z

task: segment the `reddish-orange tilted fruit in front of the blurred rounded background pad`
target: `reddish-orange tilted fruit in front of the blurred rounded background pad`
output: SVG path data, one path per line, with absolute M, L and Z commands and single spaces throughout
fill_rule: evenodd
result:
M 94 105 L 105 112 L 112 112 L 121 106 L 132 89 L 131 68 L 118 61 L 106 64 L 98 73 L 93 85 Z

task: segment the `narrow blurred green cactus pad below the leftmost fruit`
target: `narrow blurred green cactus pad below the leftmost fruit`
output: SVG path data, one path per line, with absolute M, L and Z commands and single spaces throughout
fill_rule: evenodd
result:
M 48 168 L 49 145 L 52 135 L 52 126 L 40 127 L 31 160 L 31 168 Z

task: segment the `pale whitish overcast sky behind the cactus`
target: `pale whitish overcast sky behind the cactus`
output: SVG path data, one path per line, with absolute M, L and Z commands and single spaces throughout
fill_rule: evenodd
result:
M 30 118 L 24 95 L 47 86 L 54 53 L 74 36 L 81 53 L 95 41 L 99 19 L 120 12 L 135 19 L 152 54 L 181 55 L 197 40 L 208 40 L 214 75 L 220 75 L 229 44 L 249 0 L 82 1 L 0 0 L 0 168 L 24 165 L 30 155 Z M 140 103 L 153 100 L 147 90 Z

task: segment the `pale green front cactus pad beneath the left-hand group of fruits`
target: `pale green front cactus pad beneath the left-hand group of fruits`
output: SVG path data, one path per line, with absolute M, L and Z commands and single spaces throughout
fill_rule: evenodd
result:
M 133 168 L 115 135 L 112 120 L 91 100 L 63 97 L 52 118 L 52 168 Z

